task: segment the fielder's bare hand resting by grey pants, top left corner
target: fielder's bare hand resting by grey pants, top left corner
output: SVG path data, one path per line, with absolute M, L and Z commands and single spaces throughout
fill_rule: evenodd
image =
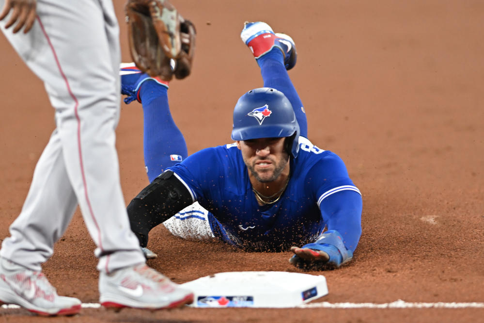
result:
M 3 20 L 12 10 L 10 19 L 5 24 L 5 28 L 10 28 L 17 22 L 13 32 L 16 33 L 25 26 L 24 33 L 31 30 L 35 17 L 37 15 L 37 0 L 5 0 L 2 11 L 0 13 L 0 20 Z

